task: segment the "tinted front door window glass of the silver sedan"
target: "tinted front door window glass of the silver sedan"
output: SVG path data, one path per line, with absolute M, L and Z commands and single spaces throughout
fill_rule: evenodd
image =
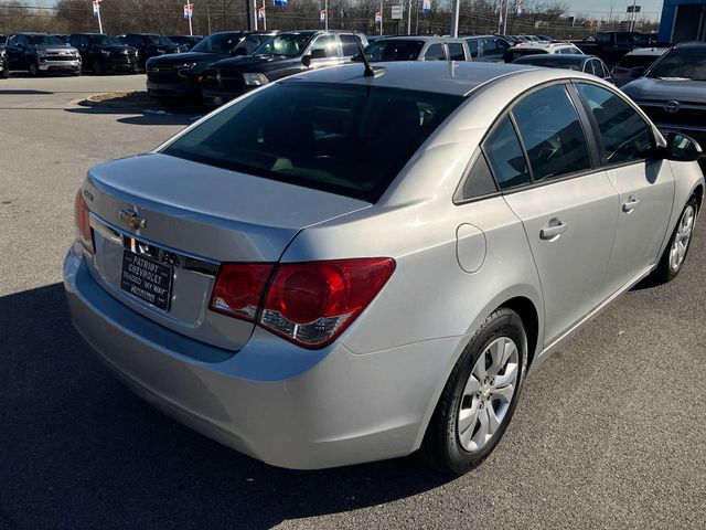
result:
M 579 83 L 578 92 L 596 118 L 601 138 L 601 157 L 609 165 L 643 160 L 652 147 L 652 131 L 642 117 L 621 97 L 606 88 Z

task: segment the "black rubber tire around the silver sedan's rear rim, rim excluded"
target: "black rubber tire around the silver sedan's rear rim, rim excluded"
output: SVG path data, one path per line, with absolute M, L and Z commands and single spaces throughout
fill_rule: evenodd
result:
M 492 438 L 478 451 L 469 452 L 461 446 L 459 434 L 457 434 L 463 390 L 481 354 L 485 354 L 488 347 L 500 338 L 510 338 L 517 347 L 518 365 L 514 394 Z M 512 420 L 526 367 L 527 338 L 522 319 L 512 309 L 498 309 L 473 335 L 453 367 L 427 427 L 418 453 L 419 458 L 432 468 L 452 476 L 463 475 L 479 466 L 495 448 Z

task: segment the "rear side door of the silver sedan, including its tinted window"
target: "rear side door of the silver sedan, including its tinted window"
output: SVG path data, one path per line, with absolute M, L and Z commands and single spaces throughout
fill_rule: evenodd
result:
M 618 222 L 618 194 L 600 168 L 584 120 L 564 83 L 513 105 L 510 119 L 524 166 L 516 183 L 499 182 L 522 221 L 542 283 L 546 344 L 599 304 Z M 486 156 L 495 163 L 492 146 Z

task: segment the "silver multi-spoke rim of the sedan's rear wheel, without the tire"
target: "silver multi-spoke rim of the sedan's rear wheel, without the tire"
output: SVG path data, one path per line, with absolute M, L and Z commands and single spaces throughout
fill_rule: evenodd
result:
M 500 337 L 475 361 L 459 407 L 457 436 L 463 449 L 474 453 L 488 445 L 507 414 L 517 388 L 517 344 Z

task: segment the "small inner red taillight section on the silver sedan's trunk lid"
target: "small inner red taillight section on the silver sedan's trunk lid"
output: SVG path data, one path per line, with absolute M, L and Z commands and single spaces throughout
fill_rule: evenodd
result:
M 254 321 L 272 267 L 270 264 L 224 264 L 213 287 L 211 309 Z

